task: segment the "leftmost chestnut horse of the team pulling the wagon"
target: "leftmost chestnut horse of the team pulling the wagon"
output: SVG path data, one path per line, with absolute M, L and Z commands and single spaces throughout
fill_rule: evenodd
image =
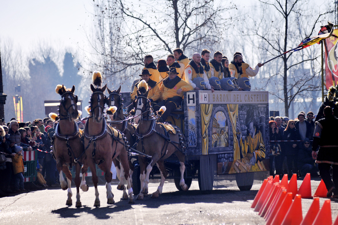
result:
M 70 173 L 68 166 L 75 166 L 75 185 L 76 185 L 76 207 L 81 207 L 80 202 L 80 169 L 81 163 L 85 164 L 85 154 L 83 144 L 81 141 L 82 131 L 77 127 L 77 123 L 74 122 L 78 117 L 77 111 L 77 96 L 74 95 L 75 86 L 71 90 L 66 90 L 63 85 L 57 85 L 55 89 L 57 94 L 61 95 L 59 105 L 59 122 L 55 128 L 55 134 L 53 136 L 53 155 L 56 159 L 56 168 L 60 174 L 60 184 L 63 190 L 68 189 L 68 199 L 66 205 L 72 205 L 72 174 Z M 63 177 L 62 172 L 65 173 L 67 182 Z M 87 169 L 82 169 L 82 191 L 88 191 L 88 185 L 86 185 L 85 173 Z

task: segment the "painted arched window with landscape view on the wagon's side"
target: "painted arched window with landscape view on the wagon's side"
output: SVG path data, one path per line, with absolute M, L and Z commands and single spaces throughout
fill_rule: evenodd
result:
M 213 147 L 229 146 L 228 126 L 226 117 L 222 111 L 218 111 L 213 118 L 212 146 Z

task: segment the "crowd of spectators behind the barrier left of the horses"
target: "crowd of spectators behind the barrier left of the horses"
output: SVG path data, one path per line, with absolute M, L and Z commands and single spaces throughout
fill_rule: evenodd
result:
M 12 118 L 0 126 L 0 155 L 6 157 L 0 163 L 0 197 L 12 193 L 27 192 L 24 188 L 23 154 L 37 150 L 38 175 L 33 182 L 38 188 L 59 186 L 56 161 L 51 154 L 51 139 L 56 124 L 50 118 L 36 119 L 33 122 L 19 123 Z

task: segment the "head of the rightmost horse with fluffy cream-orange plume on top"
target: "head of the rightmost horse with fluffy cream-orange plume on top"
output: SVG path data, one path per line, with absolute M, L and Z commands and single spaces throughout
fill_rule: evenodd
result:
M 144 80 L 141 80 L 139 84 L 137 85 L 136 90 L 136 96 L 137 98 L 134 101 L 134 109 L 131 110 L 131 114 L 135 113 L 135 116 L 138 116 L 140 114 L 143 114 L 145 111 L 148 110 L 147 117 L 149 116 L 149 110 L 150 110 L 150 102 L 148 97 L 148 84 Z M 142 115 L 143 117 L 143 115 Z M 141 116 L 136 117 L 135 123 L 138 124 L 140 122 L 140 119 L 142 120 Z

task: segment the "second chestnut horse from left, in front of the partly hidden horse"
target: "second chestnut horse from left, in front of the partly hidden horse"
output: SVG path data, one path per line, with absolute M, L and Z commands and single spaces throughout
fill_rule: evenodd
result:
M 124 177 L 127 180 L 129 203 L 134 203 L 134 197 L 129 175 L 128 152 L 126 150 L 125 138 L 115 128 L 107 126 L 103 117 L 106 96 L 104 91 L 106 86 L 95 88 L 90 85 L 92 95 L 90 97 L 90 118 L 87 119 L 84 127 L 84 146 L 86 146 L 87 162 L 92 171 L 92 180 L 95 187 L 94 206 L 100 206 L 99 192 L 97 190 L 98 178 L 96 175 L 95 164 L 104 172 L 107 189 L 107 204 L 114 204 L 114 195 L 112 193 L 111 180 L 112 159 L 119 158 L 123 168 L 125 168 Z M 93 118 L 93 119 L 92 119 Z

